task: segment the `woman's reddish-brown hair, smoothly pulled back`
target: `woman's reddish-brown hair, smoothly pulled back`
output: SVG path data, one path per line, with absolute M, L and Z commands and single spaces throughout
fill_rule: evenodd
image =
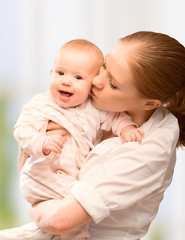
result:
M 132 44 L 128 64 L 143 97 L 158 99 L 179 122 L 178 146 L 185 146 L 185 48 L 168 35 L 136 32 L 120 41 Z

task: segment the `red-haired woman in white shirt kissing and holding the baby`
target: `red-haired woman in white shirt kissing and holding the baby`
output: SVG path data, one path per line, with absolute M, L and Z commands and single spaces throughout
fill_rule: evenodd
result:
M 93 81 L 92 102 L 127 111 L 145 132 L 142 144 L 101 142 L 71 194 L 32 207 L 30 216 L 55 234 L 90 222 L 91 240 L 140 239 L 171 183 L 176 146 L 185 145 L 184 46 L 154 32 L 120 39 Z

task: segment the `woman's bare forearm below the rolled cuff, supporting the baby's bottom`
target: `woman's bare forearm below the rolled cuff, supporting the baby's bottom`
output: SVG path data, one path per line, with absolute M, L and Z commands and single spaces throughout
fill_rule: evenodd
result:
M 65 233 L 92 220 L 72 194 L 36 204 L 29 214 L 39 228 L 53 234 Z

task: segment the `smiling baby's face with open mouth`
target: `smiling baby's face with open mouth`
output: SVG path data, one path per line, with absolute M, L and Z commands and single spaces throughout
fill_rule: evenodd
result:
M 88 98 L 93 78 L 99 72 L 95 54 L 61 49 L 51 71 L 50 92 L 62 108 L 75 107 Z

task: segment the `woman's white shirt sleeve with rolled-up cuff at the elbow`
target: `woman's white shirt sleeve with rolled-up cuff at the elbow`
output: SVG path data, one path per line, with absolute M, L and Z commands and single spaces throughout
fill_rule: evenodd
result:
M 122 144 L 117 137 L 105 140 L 87 157 L 71 192 L 98 223 L 111 211 L 128 209 L 154 191 L 164 191 L 173 174 L 176 143 L 177 137 L 161 129 L 142 144 Z

